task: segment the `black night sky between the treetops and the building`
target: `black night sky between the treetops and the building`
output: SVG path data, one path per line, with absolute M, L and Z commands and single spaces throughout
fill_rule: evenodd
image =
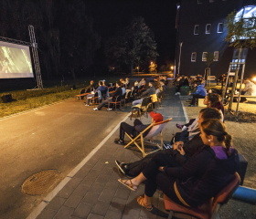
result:
M 87 13 L 102 40 L 127 26 L 134 16 L 143 16 L 155 33 L 159 64 L 173 61 L 176 45 L 176 0 L 84 0 Z

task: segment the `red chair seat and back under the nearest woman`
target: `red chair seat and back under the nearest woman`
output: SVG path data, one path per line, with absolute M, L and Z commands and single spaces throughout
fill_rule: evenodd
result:
M 204 203 L 198 208 L 190 208 L 182 206 L 170 200 L 164 194 L 165 209 L 171 211 L 169 219 L 173 218 L 187 218 L 187 215 L 199 218 L 199 219 L 215 219 L 218 218 L 218 212 L 221 205 L 228 203 L 232 196 L 232 193 L 239 187 L 240 175 L 236 172 L 232 181 L 222 189 L 215 197 L 211 198 L 208 203 Z M 182 217 L 183 216 L 183 217 Z

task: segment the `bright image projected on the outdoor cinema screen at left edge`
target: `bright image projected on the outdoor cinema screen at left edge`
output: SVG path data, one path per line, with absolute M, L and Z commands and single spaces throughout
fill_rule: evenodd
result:
M 0 41 L 0 78 L 33 78 L 29 47 Z

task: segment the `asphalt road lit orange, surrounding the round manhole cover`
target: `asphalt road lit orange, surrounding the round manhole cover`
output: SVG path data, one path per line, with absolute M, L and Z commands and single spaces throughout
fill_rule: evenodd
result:
M 27 177 L 57 169 L 60 182 L 126 115 L 69 99 L 0 120 L 0 218 L 26 218 L 44 196 L 21 193 Z

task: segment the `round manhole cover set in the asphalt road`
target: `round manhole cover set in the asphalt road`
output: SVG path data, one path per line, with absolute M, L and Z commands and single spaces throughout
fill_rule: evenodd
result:
M 22 184 L 21 192 L 29 195 L 48 193 L 59 183 L 60 176 L 57 170 L 37 172 Z

